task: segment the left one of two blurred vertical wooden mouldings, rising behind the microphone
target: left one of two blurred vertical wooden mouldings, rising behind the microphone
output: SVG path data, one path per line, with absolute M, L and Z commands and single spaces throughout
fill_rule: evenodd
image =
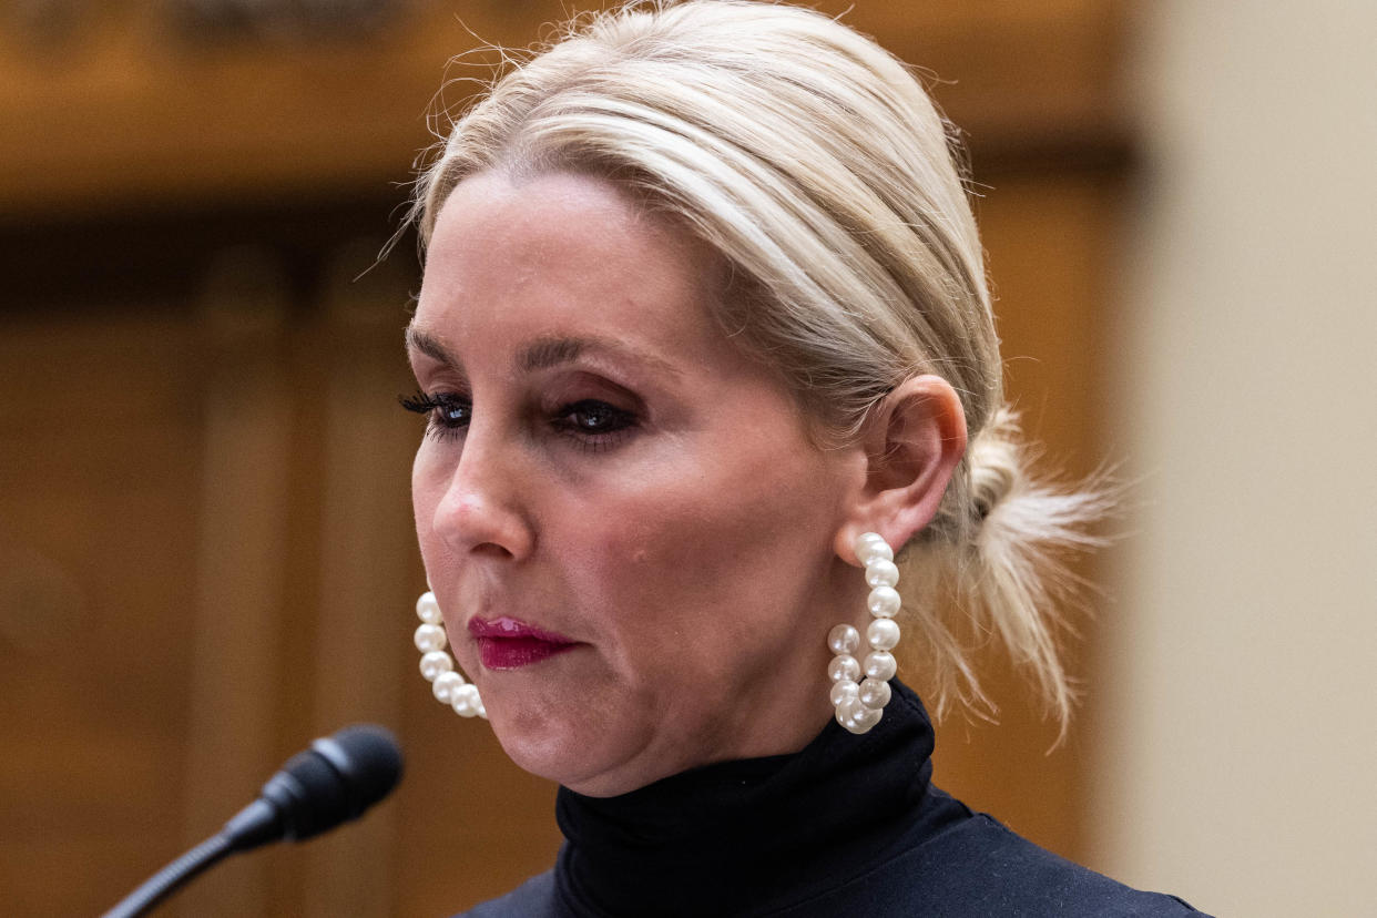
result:
M 286 639 L 293 369 L 284 267 L 266 249 L 222 253 L 194 314 L 204 339 L 197 597 L 186 824 L 194 845 L 244 805 L 277 751 L 293 695 L 278 672 Z M 262 914 L 267 864 L 242 859 L 178 903 L 185 914 Z

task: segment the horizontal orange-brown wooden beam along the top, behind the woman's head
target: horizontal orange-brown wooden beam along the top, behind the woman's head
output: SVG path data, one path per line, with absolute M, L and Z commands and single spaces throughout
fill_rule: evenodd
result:
M 63 213 L 244 194 L 384 189 L 432 138 L 445 65 L 483 41 L 525 47 L 569 4 L 397 4 L 364 39 L 185 34 L 174 4 L 77 4 L 39 40 L 0 30 L 0 211 Z M 582 4 L 580 4 L 582 6 Z M 906 61 L 979 158 L 1103 156 L 1124 145 L 1120 0 L 823 3 Z M 483 77 L 494 55 L 449 70 Z M 443 100 L 463 102 L 464 83 Z

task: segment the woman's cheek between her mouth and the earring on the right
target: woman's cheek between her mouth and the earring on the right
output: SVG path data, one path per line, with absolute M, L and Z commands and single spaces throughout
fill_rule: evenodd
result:
M 628 668 L 711 673 L 795 630 L 832 538 L 828 504 L 800 495 L 829 491 L 777 450 L 730 456 L 639 478 L 580 515 L 577 592 L 602 604 L 588 611 L 610 619 Z

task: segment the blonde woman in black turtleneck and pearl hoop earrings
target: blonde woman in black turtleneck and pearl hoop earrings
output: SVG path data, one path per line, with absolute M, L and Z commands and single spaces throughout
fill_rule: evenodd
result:
M 423 672 L 559 782 L 567 838 L 472 914 L 1190 911 L 928 783 L 901 629 L 938 703 L 978 699 L 960 590 L 1064 721 L 1036 573 L 1093 501 L 1019 468 L 896 59 L 789 7 L 602 15 L 457 121 L 417 216 Z

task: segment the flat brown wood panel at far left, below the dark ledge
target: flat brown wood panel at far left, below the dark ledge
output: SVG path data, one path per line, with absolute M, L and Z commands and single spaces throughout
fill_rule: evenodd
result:
M 180 842 L 194 354 L 187 323 L 158 315 L 0 321 L 0 889 L 14 914 L 94 914 Z

